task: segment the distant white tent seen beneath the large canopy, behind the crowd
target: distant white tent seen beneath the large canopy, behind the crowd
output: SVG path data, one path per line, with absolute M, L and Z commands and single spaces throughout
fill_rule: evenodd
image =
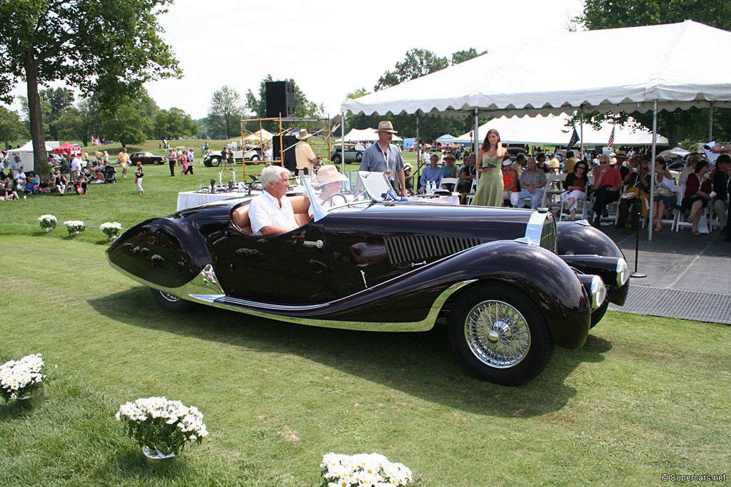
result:
M 480 126 L 478 134 L 487 134 L 489 129 L 496 129 L 503 142 L 512 144 L 537 144 L 537 145 L 567 145 L 571 138 L 570 127 L 566 126 L 568 115 L 536 115 L 535 117 L 500 117 L 493 118 L 488 123 Z M 583 144 L 596 147 L 605 146 L 609 142 L 613 126 L 610 123 L 602 125 L 601 130 L 594 130 L 591 126 L 584 126 Z M 471 142 L 471 132 L 457 137 L 452 142 Z M 482 141 L 480 141 L 482 142 Z M 658 137 L 659 145 L 667 145 L 665 137 Z M 632 120 L 627 126 L 614 126 L 614 147 L 621 145 L 638 147 L 641 145 L 652 145 L 652 132 L 640 128 L 632 128 Z

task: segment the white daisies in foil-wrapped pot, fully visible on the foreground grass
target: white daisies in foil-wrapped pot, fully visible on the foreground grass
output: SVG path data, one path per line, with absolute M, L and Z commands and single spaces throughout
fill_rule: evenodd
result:
M 145 461 L 151 465 L 174 461 L 185 445 L 200 443 L 208 436 L 197 407 L 164 397 L 122 404 L 115 418 L 124 422 L 127 434 L 142 447 Z

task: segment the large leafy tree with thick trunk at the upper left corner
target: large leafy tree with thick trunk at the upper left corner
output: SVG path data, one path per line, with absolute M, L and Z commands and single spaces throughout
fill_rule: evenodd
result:
M 172 0 L 14 0 L 0 2 L 0 95 L 26 81 L 34 158 L 45 160 L 38 85 L 64 80 L 110 110 L 143 83 L 181 77 L 156 15 Z M 83 66 L 83 69 L 80 69 Z M 7 96 L 5 97 L 7 99 Z

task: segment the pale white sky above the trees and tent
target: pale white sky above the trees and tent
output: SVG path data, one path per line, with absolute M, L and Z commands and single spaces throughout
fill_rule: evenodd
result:
M 183 78 L 146 88 L 160 108 L 202 118 L 223 85 L 235 88 L 243 103 L 249 90 L 258 96 L 261 80 L 271 74 L 294 79 L 334 116 L 347 93 L 373 91 L 412 48 L 447 58 L 470 47 L 490 52 L 534 34 L 566 31 L 581 12 L 581 0 L 175 0 L 159 22 Z M 25 95 L 25 86 L 19 83 L 13 93 Z M 11 108 L 20 112 L 17 101 Z

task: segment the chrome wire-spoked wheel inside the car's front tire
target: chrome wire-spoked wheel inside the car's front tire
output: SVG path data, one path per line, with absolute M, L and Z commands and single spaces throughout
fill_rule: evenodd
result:
M 531 331 L 520 311 L 502 301 L 483 301 L 467 314 L 464 327 L 469 349 L 490 367 L 515 367 L 528 355 Z

